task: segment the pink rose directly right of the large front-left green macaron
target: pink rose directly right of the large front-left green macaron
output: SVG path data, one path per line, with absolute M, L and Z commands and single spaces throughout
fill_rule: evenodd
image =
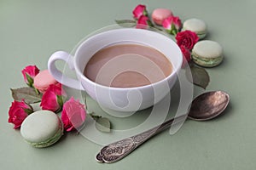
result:
M 69 132 L 83 125 L 86 117 L 84 105 L 79 103 L 79 100 L 74 100 L 73 97 L 63 105 L 61 112 L 61 121 L 64 124 L 64 129 Z

